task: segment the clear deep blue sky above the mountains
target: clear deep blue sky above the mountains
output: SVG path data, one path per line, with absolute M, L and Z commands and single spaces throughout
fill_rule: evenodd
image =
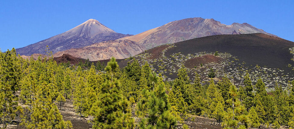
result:
M 294 1 L 63 1 L 1 0 L 0 48 L 20 48 L 83 23 L 99 20 L 118 33 L 138 34 L 174 20 L 213 18 L 248 23 L 294 41 Z

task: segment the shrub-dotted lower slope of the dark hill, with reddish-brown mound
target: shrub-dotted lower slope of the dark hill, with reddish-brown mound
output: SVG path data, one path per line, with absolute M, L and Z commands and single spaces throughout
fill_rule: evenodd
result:
M 243 84 L 244 76 L 248 72 L 253 83 L 256 83 L 259 77 L 261 77 L 268 87 L 268 91 L 272 90 L 276 83 L 286 88 L 288 80 L 293 80 L 292 73 L 285 72 L 279 68 L 248 65 L 245 61 L 230 53 L 218 53 L 217 56 L 213 52 L 198 52 L 194 54 L 182 54 L 179 52 L 166 55 L 166 50 L 173 47 L 176 46 L 162 46 L 165 49 L 159 52 L 161 55 L 144 53 L 136 55 L 135 58 L 138 59 L 141 65 L 147 61 L 153 71 L 163 74 L 164 80 L 175 79 L 177 77 L 177 70 L 182 65 L 188 69 L 188 75 L 191 80 L 194 80 L 194 74 L 197 72 L 203 81 L 209 81 L 210 78 L 207 75 L 210 68 L 212 68 L 216 73 L 214 80 L 220 80 L 224 75 L 227 75 L 234 81 L 236 86 Z

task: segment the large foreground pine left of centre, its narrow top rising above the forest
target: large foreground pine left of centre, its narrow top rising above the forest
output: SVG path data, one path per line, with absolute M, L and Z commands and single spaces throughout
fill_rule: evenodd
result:
M 107 63 L 105 71 L 111 75 L 100 87 L 100 95 L 93 103 L 93 128 L 134 128 L 134 119 L 131 118 L 130 105 L 118 89 L 120 83 L 113 78 L 114 72 L 119 68 L 115 58 Z

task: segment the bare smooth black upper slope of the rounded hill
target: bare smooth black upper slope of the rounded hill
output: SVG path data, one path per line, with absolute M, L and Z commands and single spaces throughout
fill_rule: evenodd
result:
M 238 56 L 250 65 L 285 68 L 294 63 L 290 60 L 293 55 L 289 52 L 289 48 L 294 47 L 294 42 L 261 33 L 207 36 L 174 45 L 176 47 L 166 51 L 167 55 L 177 52 L 189 54 L 219 51 Z

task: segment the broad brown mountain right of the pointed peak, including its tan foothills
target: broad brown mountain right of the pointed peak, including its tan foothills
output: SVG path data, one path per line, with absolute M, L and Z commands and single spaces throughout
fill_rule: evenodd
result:
M 116 39 L 116 41 L 108 41 L 107 44 L 103 44 L 102 42 L 84 48 L 58 52 L 54 56 L 57 57 L 67 53 L 77 58 L 89 58 L 92 61 L 109 59 L 111 56 L 123 59 L 128 58 L 130 55 L 135 55 L 143 52 L 144 50 L 163 44 L 175 43 L 211 35 L 247 33 L 264 33 L 275 36 L 273 34 L 266 33 L 261 29 L 257 29 L 247 23 L 233 23 L 232 25 L 225 25 L 213 19 L 195 17 L 176 20 L 137 35 L 126 36 Z M 124 44 L 121 45 L 118 42 L 123 42 Z M 109 48 L 106 48 L 107 45 L 109 45 Z M 98 53 L 100 55 L 97 55 Z

